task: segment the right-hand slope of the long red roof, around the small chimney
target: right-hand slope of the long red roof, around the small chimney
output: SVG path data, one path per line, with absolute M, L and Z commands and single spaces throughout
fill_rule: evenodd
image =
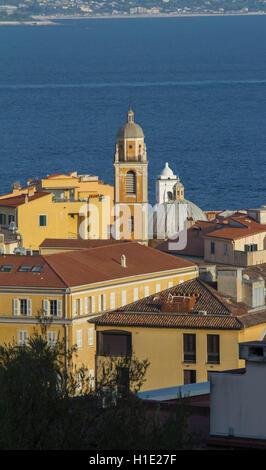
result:
M 126 256 L 126 268 L 121 266 L 122 255 Z M 114 243 L 91 250 L 68 251 L 44 257 L 70 287 L 196 267 L 194 263 L 137 242 Z

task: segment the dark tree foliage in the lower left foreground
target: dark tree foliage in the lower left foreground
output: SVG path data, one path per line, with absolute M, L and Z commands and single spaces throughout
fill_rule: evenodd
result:
M 48 345 L 35 333 L 26 345 L 0 347 L 1 450 L 192 449 L 197 436 L 187 432 L 188 408 L 178 404 L 162 420 L 148 410 L 137 391 L 147 361 L 134 356 L 106 358 L 101 379 L 91 390 L 86 369 L 73 366 L 75 348 L 64 341 Z M 121 381 L 128 371 L 130 390 Z

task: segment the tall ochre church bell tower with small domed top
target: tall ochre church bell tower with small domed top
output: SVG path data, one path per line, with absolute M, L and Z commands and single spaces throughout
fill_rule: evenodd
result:
M 148 243 L 148 161 L 142 128 L 129 106 L 114 156 L 115 238 Z

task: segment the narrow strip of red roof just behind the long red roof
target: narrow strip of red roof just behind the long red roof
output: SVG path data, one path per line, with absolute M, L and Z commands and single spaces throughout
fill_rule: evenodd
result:
M 128 243 L 128 240 L 83 240 L 83 239 L 68 239 L 68 238 L 45 238 L 41 243 L 40 248 L 97 248 L 102 246 L 109 246 L 117 243 Z

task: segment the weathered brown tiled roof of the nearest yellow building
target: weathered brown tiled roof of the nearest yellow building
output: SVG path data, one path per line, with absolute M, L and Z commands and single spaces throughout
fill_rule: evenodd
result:
M 162 313 L 162 301 L 167 299 L 169 294 L 189 293 L 198 294 L 198 300 L 189 313 Z M 196 278 L 107 312 L 91 321 L 96 325 L 113 326 L 242 329 L 252 322 L 250 317 L 254 315 L 247 314 L 247 311 L 247 305 L 228 301 L 215 289 Z M 264 317 L 266 322 L 266 310 L 263 318 L 254 316 L 254 322 L 263 322 Z

